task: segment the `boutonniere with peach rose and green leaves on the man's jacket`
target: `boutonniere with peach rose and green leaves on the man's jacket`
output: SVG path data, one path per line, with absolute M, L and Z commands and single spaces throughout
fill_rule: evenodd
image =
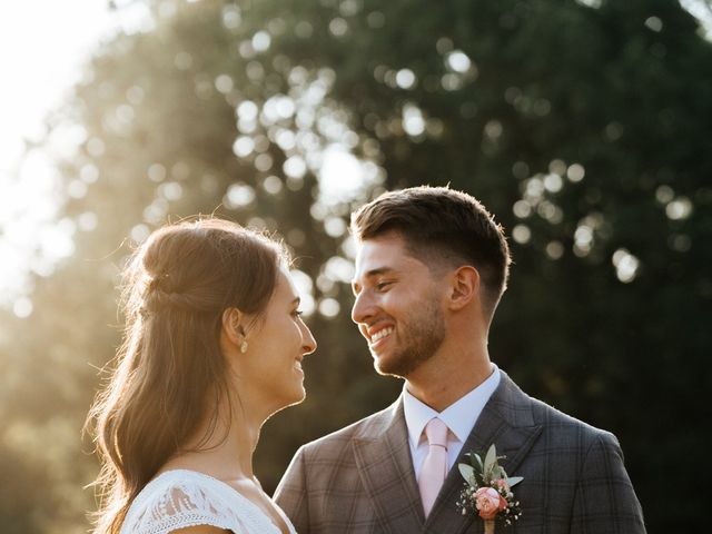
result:
M 469 464 L 457 464 L 459 473 L 465 478 L 465 487 L 459 494 L 457 506 L 463 515 L 468 511 L 476 513 L 485 522 L 485 534 L 494 534 L 495 520 L 504 526 L 508 526 L 520 518 L 522 511 L 520 502 L 514 500 L 512 487 L 524 478 L 521 476 L 507 476 L 497 456 L 494 446 L 490 446 L 484 462 L 474 453 L 465 456 Z

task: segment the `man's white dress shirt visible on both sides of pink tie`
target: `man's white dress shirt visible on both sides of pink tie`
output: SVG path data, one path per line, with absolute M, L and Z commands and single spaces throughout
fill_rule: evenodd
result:
M 500 368 L 494 364 L 492 366 L 494 370 L 485 382 L 441 413 L 435 412 L 428 405 L 415 398 L 404 386 L 403 412 L 408 427 L 408 444 L 411 445 L 411 457 L 413 458 L 416 481 L 421 475 L 421 467 L 428 448 L 427 438 L 423 431 L 427 422 L 433 417 L 437 417 L 449 428 L 447 433 L 447 468 L 451 469 L 457 461 L 465 439 L 467 439 L 475 423 L 477 423 L 485 404 L 487 404 L 487 400 L 490 400 L 490 397 L 500 385 Z

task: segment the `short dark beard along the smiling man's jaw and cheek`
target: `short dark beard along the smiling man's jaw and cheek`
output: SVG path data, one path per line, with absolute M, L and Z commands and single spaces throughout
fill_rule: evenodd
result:
M 386 358 L 376 358 L 374 367 L 380 375 L 407 377 L 431 359 L 445 339 L 445 316 L 435 296 L 398 322 L 399 345 Z

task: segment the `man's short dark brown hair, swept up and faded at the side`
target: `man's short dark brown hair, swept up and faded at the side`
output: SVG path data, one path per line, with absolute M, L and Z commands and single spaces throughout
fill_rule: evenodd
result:
M 352 214 L 350 230 L 359 241 L 394 231 L 431 268 L 475 267 L 490 315 L 506 288 L 511 257 L 504 230 L 466 192 L 428 186 L 385 192 Z

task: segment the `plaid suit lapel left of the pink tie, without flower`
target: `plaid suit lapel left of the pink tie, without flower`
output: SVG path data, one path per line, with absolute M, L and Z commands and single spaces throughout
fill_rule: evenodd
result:
M 423 508 L 400 398 L 384 412 L 379 423 L 369 428 L 369 435 L 354 439 L 362 482 L 385 532 L 419 532 Z

